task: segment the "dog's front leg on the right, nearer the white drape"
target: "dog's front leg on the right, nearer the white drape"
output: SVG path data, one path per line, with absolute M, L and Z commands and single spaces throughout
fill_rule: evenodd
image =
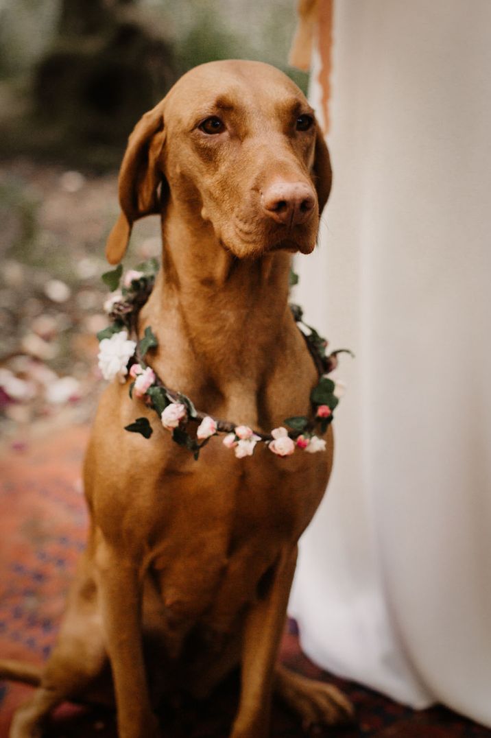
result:
M 265 738 L 269 733 L 273 673 L 296 562 L 296 546 L 281 554 L 270 572 L 266 592 L 260 593 L 247 613 L 241 656 L 241 697 L 230 738 Z

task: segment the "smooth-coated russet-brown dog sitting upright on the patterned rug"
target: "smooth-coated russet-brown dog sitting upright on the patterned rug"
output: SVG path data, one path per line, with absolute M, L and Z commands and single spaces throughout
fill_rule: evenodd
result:
M 158 337 L 151 365 L 165 384 L 210 415 L 269 432 L 311 412 L 317 371 L 288 276 L 292 252 L 315 246 L 330 184 L 309 103 L 266 64 L 193 69 L 131 134 L 107 256 L 120 261 L 133 221 L 162 213 L 162 270 L 139 331 Z M 151 439 L 123 430 L 135 413 L 148 414 Z M 326 440 L 326 452 L 278 458 L 260 444 L 238 459 L 213 438 L 196 462 L 111 383 L 86 455 L 89 542 L 11 737 L 32 737 L 62 700 L 93 693 L 108 663 L 121 738 L 156 737 L 162 693 L 206 696 L 237 665 L 232 738 L 267 736 L 273 689 L 307 725 L 349 717 L 337 689 L 275 664 L 298 538 L 329 477 Z

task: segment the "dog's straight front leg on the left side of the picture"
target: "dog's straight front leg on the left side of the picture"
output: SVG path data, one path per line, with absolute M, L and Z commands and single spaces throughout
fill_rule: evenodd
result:
M 142 588 L 137 562 L 103 540 L 97 548 L 103 628 L 114 680 L 120 738 L 157 738 L 143 661 Z

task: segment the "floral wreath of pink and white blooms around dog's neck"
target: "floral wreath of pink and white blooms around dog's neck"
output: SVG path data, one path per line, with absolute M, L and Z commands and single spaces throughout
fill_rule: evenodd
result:
M 320 433 L 326 432 L 333 420 L 333 411 L 344 391 L 343 382 L 329 379 L 326 374 L 337 367 L 337 354 L 347 352 L 346 348 L 326 354 L 327 342 L 309 325 L 303 323 L 302 308 L 290 304 L 293 317 L 297 323 L 312 359 L 315 362 L 320 379 L 310 393 L 310 401 L 315 410 L 312 418 L 306 415 L 295 415 L 286 418 L 284 425 L 270 433 L 261 433 L 247 425 L 236 425 L 229 421 L 213 418 L 207 413 L 196 410 L 193 402 L 184 394 L 170 390 L 159 379 L 151 367 L 145 363 L 148 351 L 157 348 L 157 338 L 151 327 L 145 328 L 143 338 L 137 337 L 137 317 L 140 309 L 148 300 L 154 287 L 155 276 L 159 269 L 155 259 L 145 261 L 131 269 L 123 277 L 120 288 L 123 266 L 103 274 L 103 281 L 111 289 L 111 297 L 104 303 L 104 309 L 112 323 L 103 331 L 99 331 L 100 341 L 98 355 L 100 370 L 104 379 L 118 377 L 126 382 L 129 375 L 133 381 L 129 387 L 129 395 L 143 401 L 151 407 L 165 429 L 171 431 L 172 439 L 199 458 L 199 452 L 214 435 L 225 434 L 224 446 L 234 449 L 238 458 L 252 456 L 255 445 L 264 443 L 269 450 L 278 456 L 289 456 L 295 449 L 303 449 L 309 453 L 324 451 L 326 441 L 315 435 L 317 427 Z M 290 272 L 290 286 L 298 282 L 295 272 Z M 137 340 L 133 339 L 136 338 Z M 352 354 L 351 354 L 352 356 Z M 196 435 L 190 435 L 188 425 L 196 424 Z M 287 430 L 289 429 L 289 430 Z M 141 433 L 150 438 L 153 430 L 148 418 L 137 418 L 125 430 Z

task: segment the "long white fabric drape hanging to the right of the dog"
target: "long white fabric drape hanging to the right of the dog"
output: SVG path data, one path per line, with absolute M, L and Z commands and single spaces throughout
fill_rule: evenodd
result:
M 327 669 L 491 726 L 491 2 L 340 0 L 333 37 L 295 299 L 356 359 L 290 612 Z

